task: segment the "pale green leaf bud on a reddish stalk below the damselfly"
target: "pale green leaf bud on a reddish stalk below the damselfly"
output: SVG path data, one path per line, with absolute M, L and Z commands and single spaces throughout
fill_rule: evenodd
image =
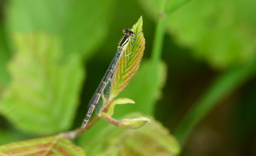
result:
M 119 121 L 118 126 L 120 128 L 126 128 L 126 129 L 138 129 L 144 126 L 146 123 L 150 123 L 150 119 L 139 116 L 139 118 L 125 118 L 122 121 Z

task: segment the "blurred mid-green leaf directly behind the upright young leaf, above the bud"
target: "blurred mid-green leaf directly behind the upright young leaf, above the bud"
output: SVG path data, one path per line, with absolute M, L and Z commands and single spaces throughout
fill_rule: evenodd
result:
M 166 65 L 161 62 L 157 67 L 158 73 L 151 69 L 151 61 L 142 63 L 142 67 L 134 76 L 129 86 L 119 96 L 129 97 L 136 101 L 135 105 L 118 108 L 114 116 L 124 116 L 125 113 L 139 111 L 147 115 L 153 115 L 156 101 L 161 97 L 161 89 L 166 82 Z M 157 79 L 152 75 L 156 74 Z

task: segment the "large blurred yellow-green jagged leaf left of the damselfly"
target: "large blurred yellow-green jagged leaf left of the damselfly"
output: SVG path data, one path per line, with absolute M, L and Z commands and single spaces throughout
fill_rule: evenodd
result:
M 46 34 L 14 36 L 11 83 L 3 93 L 2 113 L 17 128 L 49 134 L 70 128 L 84 77 L 80 57 L 61 60 L 59 38 Z

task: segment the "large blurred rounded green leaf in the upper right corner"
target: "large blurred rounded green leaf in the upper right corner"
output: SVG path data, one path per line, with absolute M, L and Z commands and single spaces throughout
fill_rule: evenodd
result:
M 226 68 L 256 55 L 255 7 L 250 0 L 195 0 L 172 13 L 166 28 L 196 58 Z

